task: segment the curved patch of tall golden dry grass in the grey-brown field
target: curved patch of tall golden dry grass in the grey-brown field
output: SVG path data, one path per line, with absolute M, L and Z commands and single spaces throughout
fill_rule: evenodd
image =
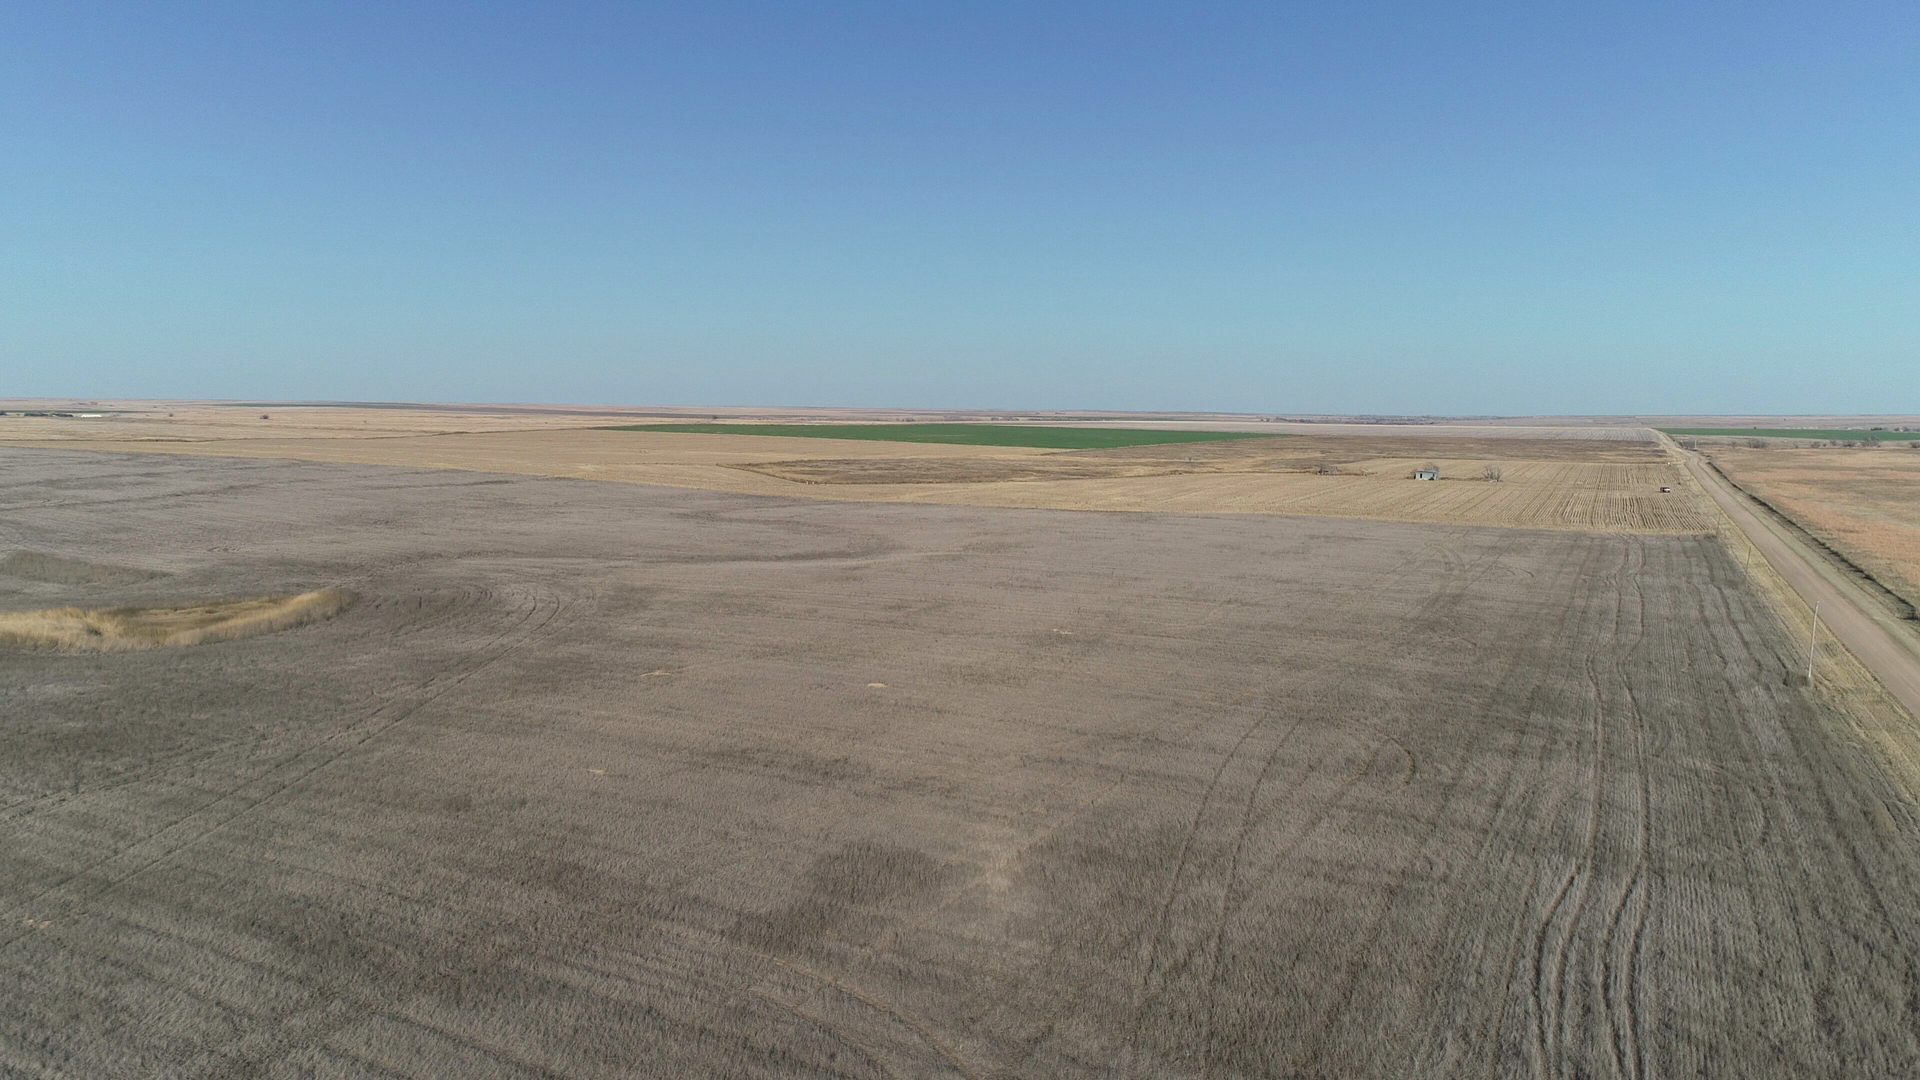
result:
M 328 619 L 346 611 L 355 600 L 344 588 L 317 588 L 292 596 L 252 596 L 186 607 L 0 611 L 0 646 L 113 651 L 230 642 Z

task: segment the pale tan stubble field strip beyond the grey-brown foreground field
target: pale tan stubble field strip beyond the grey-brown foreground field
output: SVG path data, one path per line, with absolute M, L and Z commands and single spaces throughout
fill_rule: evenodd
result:
M 182 407 L 171 419 L 0 417 L 0 444 L 476 469 L 852 502 L 1711 528 L 1711 511 L 1684 471 L 1644 429 L 1252 425 L 1294 434 L 1058 452 L 593 430 L 586 423 L 595 421 L 457 409 L 284 409 L 259 421 L 232 407 Z M 1440 482 L 1407 479 L 1427 463 L 1440 465 Z M 1501 471 L 1500 484 L 1480 479 L 1490 465 Z M 1682 494 L 1663 496 L 1661 486 Z

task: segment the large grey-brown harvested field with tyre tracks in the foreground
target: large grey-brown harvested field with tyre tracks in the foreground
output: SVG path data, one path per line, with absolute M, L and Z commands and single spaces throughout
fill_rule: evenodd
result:
M 1428 484 L 1438 486 L 1438 484 Z M 0 450 L 0 1072 L 1893 1076 L 1920 822 L 1711 536 Z

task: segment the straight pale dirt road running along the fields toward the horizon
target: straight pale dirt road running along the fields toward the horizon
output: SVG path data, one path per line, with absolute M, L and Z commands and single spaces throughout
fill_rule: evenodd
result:
M 1707 488 L 1713 502 L 1734 519 L 1793 592 L 1809 605 L 1820 605 L 1820 628 L 1847 646 L 1874 673 L 1908 713 L 1920 715 L 1920 638 L 1889 615 L 1860 586 L 1807 548 L 1778 521 L 1736 492 L 1699 454 L 1686 454 L 1688 469 Z

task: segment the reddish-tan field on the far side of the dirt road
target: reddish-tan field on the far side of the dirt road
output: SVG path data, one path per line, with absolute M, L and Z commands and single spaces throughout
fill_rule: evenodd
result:
M 1920 450 L 1715 448 L 1713 459 L 1920 607 Z

